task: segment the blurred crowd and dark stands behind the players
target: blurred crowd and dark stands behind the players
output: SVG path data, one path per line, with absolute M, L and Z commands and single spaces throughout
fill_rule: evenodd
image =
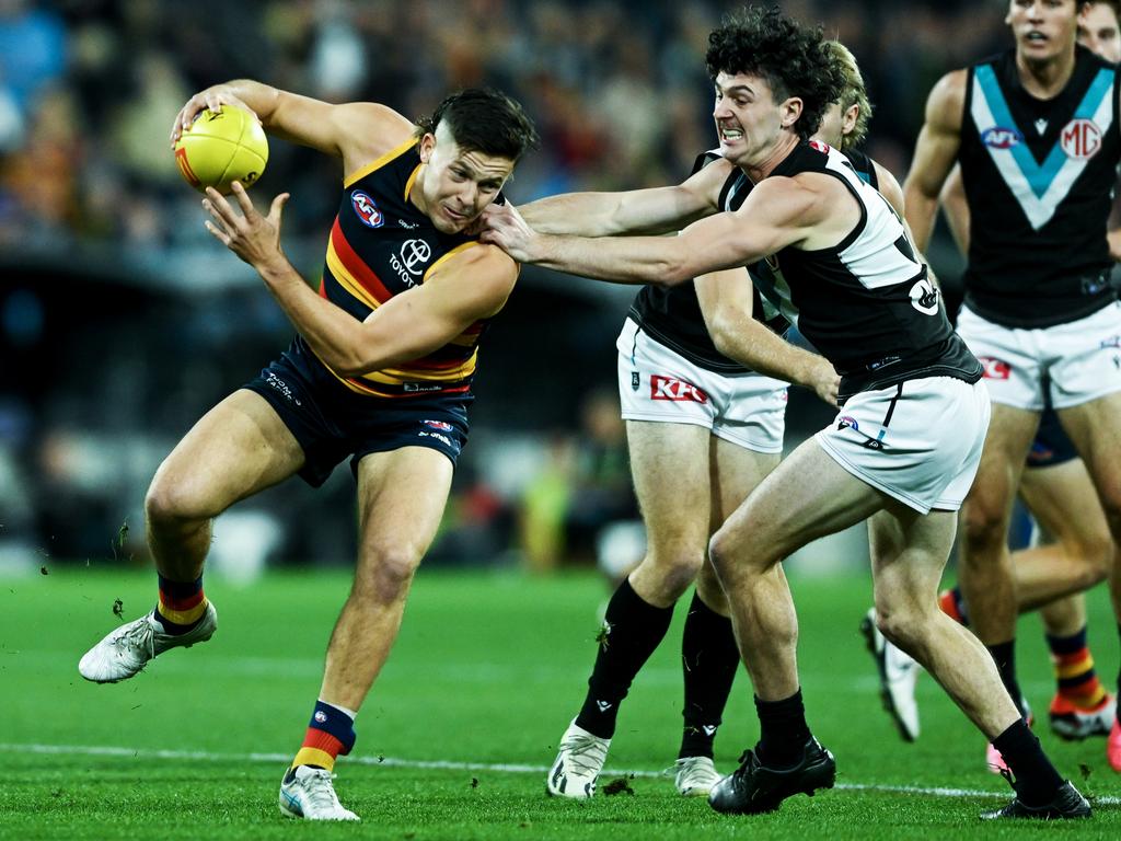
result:
M 926 95 L 1010 44 L 1002 0 L 797 0 L 858 57 L 868 151 L 900 181 Z M 519 99 L 541 149 L 517 203 L 683 178 L 713 145 L 708 0 L 0 0 L 0 569 L 143 563 L 142 499 L 210 406 L 286 346 L 256 275 L 203 229 L 168 135 L 194 92 L 248 76 L 430 113 L 457 87 Z M 274 141 L 259 203 L 290 191 L 284 243 L 318 277 L 337 163 Z M 932 260 L 954 289 L 945 238 Z M 614 339 L 633 289 L 527 270 L 481 354 L 470 446 L 429 563 L 546 570 L 641 552 Z M 788 445 L 831 413 L 794 389 Z M 339 563 L 352 486 L 298 480 L 222 518 L 214 563 Z M 852 558 L 862 564 L 864 558 Z

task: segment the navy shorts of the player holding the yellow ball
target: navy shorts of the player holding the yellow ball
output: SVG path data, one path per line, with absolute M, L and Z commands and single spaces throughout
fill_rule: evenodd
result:
M 467 443 L 469 394 L 369 397 L 351 391 L 296 336 L 280 359 L 244 388 L 276 410 L 304 450 L 300 478 L 313 488 L 351 458 L 351 472 L 369 453 L 404 446 L 437 450 L 455 464 Z

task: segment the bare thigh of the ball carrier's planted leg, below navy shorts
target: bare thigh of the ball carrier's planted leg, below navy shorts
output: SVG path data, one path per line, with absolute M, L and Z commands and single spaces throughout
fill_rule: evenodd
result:
M 406 446 L 358 464 L 360 565 L 415 565 L 439 528 L 453 465 L 437 450 Z

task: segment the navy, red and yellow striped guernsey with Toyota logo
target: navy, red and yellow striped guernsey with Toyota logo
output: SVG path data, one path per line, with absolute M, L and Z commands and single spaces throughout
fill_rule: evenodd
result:
M 479 244 L 474 237 L 436 230 L 409 201 L 419 168 L 417 142 L 409 140 L 343 184 L 319 295 L 358 321 L 393 295 L 421 285 L 452 255 Z M 471 388 L 485 327 L 485 320 L 475 322 L 443 348 L 396 368 L 335 376 L 351 390 L 373 397 L 462 394 Z

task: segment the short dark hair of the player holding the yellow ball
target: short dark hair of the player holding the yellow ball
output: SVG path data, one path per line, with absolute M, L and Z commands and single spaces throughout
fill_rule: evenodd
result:
M 465 151 L 481 151 L 518 160 L 536 148 L 534 121 L 516 100 L 492 87 L 467 87 L 453 93 L 433 111 L 417 120 L 417 137 L 446 124 L 456 145 Z

